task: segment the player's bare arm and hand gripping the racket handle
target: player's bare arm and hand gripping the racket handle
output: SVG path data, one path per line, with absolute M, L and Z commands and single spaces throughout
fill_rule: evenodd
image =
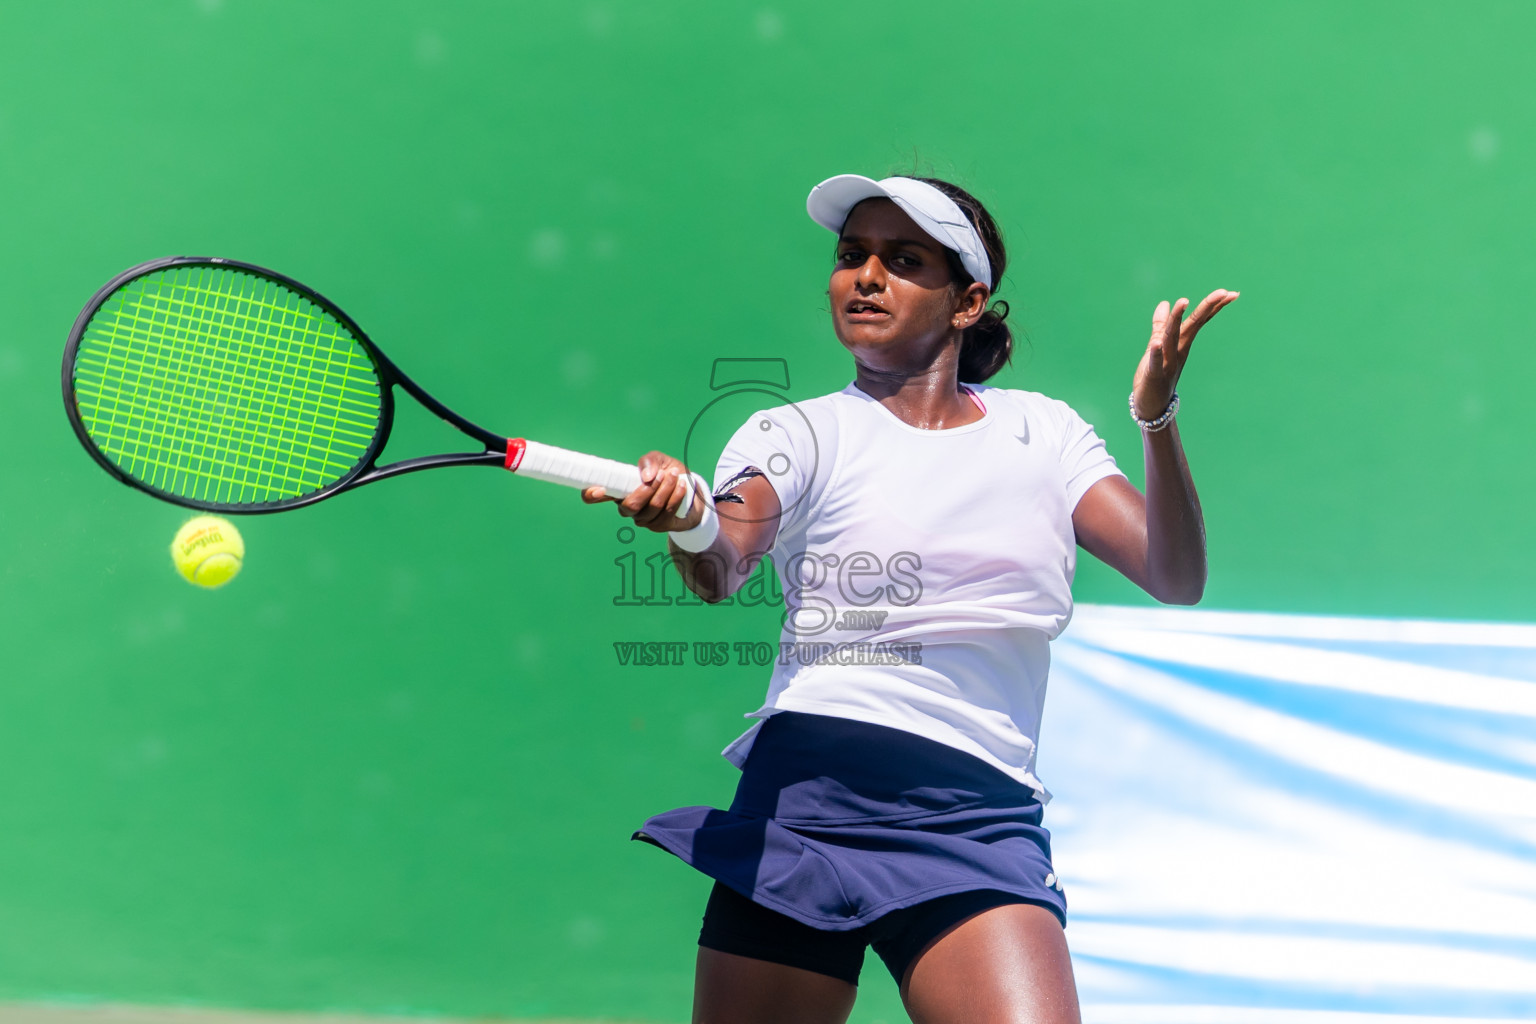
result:
M 610 499 L 601 487 L 582 491 L 582 500 L 588 505 L 616 500 L 621 516 L 654 533 L 676 533 L 697 527 L 703 514 L 702 502 L 694 502 L 684 519 L 676 514 L 687 490 L 688 468 L 660 451 L 642 456 L 639 467 L 641 485 L 622 500 Z M 725 500 L 731 494 L 742 500 Z M 708 548 L 684 551 L 671 540 L 667 542 L 684 583 L 711 605 L 734 594 L 751 577 L 757 562 L 779 536 L 780 516 L 779 494 L 760 474 L 720 494 L 716 508 L 720 533 Z

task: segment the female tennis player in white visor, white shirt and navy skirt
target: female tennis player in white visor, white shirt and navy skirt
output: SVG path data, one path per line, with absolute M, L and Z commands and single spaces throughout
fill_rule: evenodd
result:
M 725 749 L 742 769 L 731 806 L 636 832 L 716 880 L 693 1019 L 845 1021 L 872 946 L 919 1024 L 1075 1022 L 1034 772 L 1049 642 L 1078 547 L 1158 600 L 1200 600 L 1175 384 L 1236 292 L 1152 313 L 1130 391 L 1143 496 L 1068 405 L 985 384 L 1012 336 L 992 302 L 1003 238 L 974 197 L 839 175 L 806 209 L 837 233 L 828 295 L 852 382 L 753 415 L 713 488 L 647 454 L 619 504 L 667 534 L 705 600 L 765 554 L 785 591 L 768 697 Z

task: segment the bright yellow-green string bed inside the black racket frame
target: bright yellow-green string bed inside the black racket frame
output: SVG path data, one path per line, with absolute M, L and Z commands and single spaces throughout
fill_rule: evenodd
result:
M 75 364 L 81 419 L 141 482 L 258 504 L 352 471 L 378 433 L 372 361 L 324 309 L 224 267 L 146 275 L 104 302 Z

